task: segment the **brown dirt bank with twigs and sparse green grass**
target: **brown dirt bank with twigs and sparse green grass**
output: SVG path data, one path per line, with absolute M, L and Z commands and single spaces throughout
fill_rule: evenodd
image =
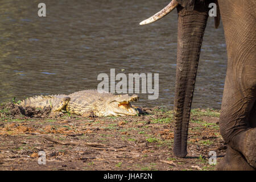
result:
M 147 114 L 47 118 L 49 108 L 1 105 L 0 170 L 214 170 L 209 151 L 216 152 L 217 163 L 223 158 L 218 110 L 192 110 L 184 159 L 172 153 L 173 111 L 143 110 Z M 38 163 L 39 151 L 45 152 L 46 164 Z

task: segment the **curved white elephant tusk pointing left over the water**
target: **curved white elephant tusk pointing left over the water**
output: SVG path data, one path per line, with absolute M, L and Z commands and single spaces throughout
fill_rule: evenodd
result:
M 177 5 L 179 5 L 179 3 L 176 0 L 172 0 L 169 5 L 167 5 L 166 7 L 164 7 L 164 9 L 162 9 L 161 11 L 159 11 L 158 13 L 154 14 L 153 16 L 151 16 L 148 19 L 143 20 L 141 23 L 139 23 L 140 25 L 144 25 L 144 24 L 149 24 L 149 23 L 153 23 L 156 20 L 159 20 L 161 18 L 163 18 L 163 16 L 167 15 L 168 13 L 170 13 L 172 10 L 175 9 L 175 7 L 177 7 Z

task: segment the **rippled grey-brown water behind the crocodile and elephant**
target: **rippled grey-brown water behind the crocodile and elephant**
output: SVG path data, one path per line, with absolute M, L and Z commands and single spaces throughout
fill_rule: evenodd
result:
M 174 104 L 177 13 L 139 26 L 168 1 L 0 2 L 0 102 L 39 94 L 96 89 L 100 73 L 159 73 L 159 98 L 140 93 L 139 106 Z M 209 18 L 192 107 L 220 109 L 226 72 L 221 26 Z

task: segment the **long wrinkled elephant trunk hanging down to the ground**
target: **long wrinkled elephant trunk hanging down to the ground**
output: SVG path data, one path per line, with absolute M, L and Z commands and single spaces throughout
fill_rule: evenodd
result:
M 207 7 L 199 7 L 198 10 L 195 7 L 194 10 L 188 11 L 177 6 L 179 18 L 174 99 L 174 155 L 181 158 L 187 155 L 191 103 L 201 44 L 208 19 Z

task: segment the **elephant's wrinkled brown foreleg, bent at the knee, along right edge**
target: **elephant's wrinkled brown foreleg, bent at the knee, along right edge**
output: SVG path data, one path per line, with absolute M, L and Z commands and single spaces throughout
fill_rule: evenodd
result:
M 256 3 L 218 0 L 218 4 L 228 53 L 220 132 L 225 142 L 256 168 L 256 26 L 251 23 Z

